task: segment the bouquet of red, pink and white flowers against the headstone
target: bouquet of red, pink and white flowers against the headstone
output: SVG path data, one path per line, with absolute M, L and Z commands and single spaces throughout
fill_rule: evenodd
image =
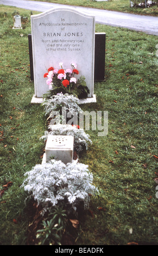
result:
M 68 93 L 77 96 L 78 99 L 85 99 L 90 93 L 89 88 L 86 86 L 85 77 L 80 76 L 77 80 L 75 77 L 79 74 L 77 65 L 71 64 L 70 69 L 63 69 L 63 63 L 59 63 L 60 69 L 54 69 L 50 67 L 48 72 L 43 77 L 47 78 L 46 84 L 49 88 L 49 92 L 44 96 L 49 98 L 57 93 Z

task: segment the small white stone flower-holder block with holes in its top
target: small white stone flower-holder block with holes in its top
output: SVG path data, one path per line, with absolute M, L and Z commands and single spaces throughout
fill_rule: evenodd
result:
M 61 160 L 62 162 L 73 162 L 73 136 L 61 136 L 61 135 L 48 135 L 46 142 L 46 162 L 50 161 L 51 157 L 55 160 Z

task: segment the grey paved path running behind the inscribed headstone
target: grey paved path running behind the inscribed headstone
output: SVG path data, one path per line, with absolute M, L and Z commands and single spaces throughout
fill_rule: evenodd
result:
M 66 7 L 64 4 L 26 1 L 26 0 L 0 0 L 0 4 L 11 5 L 34 11 L 46 11 L 52 8 Z M 123 27 L 147 34 L 158 35 L 158 17 L 121 13 L 118 11 L 99 10 L 94 8 L 71 6 L 84 13 L 94 15 L 96 23 Z

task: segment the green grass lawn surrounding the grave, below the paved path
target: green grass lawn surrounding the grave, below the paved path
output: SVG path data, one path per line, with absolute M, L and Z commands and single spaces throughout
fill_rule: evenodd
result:
M 24 173 L 42 162 L 47 130 L 41 105 L 31 105 L 28 34 L 12 29 L 14 11 L 1 5 L 0 245 L 27 245 L 31 209 L 21 188 Z M 36 14 L 36 12 L 33 12 Z M 80 220 L 77 245 L 158 245 L 157 36 L 96 25 L 106 33 L 105 82 L 94 84 L 97 103 L 84 111 L 108 111 L 108 135 L 89 133 L 89 164 L 99 196 Z

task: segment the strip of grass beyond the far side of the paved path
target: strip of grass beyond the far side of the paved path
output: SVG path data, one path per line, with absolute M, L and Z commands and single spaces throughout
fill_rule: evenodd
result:
M 33 0 L 34 1 L 34 0 Z M 93 0 L 35 0 L 41 2 L 49 2 L 49 3 L 58 3 L 58 4 L 69 4 L 69 5 L 78 5 L 83 7 L 91 7 L 97 9 L 105 9 L 105 10 L 113 10 L 113 11 L 123 11 L 124 13 L 135 13 L 141 15 L 158 15 L 158 7 L 153 5 L 150 8 L 130 8 L 130 0 L 111 0 L 105 2 L 97 2 Z M 135 1 L 132 1 L 135 2 Z M 140 3 L 141 0 L 137 0 L 137 3 Z M 157 2 L 155 0 L 154 2 Z

